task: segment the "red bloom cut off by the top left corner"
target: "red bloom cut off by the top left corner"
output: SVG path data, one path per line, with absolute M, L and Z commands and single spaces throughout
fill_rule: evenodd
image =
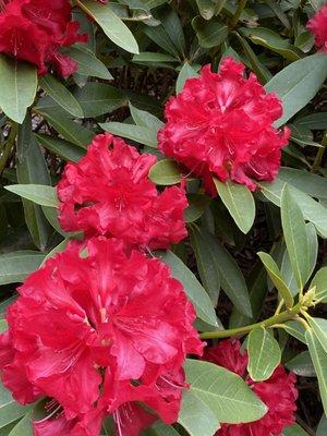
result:
M 77 64 L 60 48 L 87 39 L 71 20 L 69 0 L 0 0 L 0 52 L 37 65 L 39 74 L 50 66 L 69 76 Z

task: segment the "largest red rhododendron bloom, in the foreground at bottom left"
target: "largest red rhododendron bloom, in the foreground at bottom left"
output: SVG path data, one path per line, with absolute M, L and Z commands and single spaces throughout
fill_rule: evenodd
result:
M 182 364 L 203 346 L 167 266 L 120 240 L 93 238 L 71 242 L 19 293 L 0 337 L 0 370 L 20 403 L 50 398 L 36 436 L 96 436 L 109 414 L 119 436 L 137 436 L 157 416 L 177 420 Z

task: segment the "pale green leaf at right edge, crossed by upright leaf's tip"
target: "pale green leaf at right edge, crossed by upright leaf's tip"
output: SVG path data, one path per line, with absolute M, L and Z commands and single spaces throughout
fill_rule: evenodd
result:
M 280 206 L 284 184 L 286 182 L 280 179 L 276 179 L 274 183 L 258 182 L 264 196 L 277 206 Z M 296 187 L 290 186 L 290 191 L 304 218 L 315 225 L 323 238 L 327 238 L 327 209 Z

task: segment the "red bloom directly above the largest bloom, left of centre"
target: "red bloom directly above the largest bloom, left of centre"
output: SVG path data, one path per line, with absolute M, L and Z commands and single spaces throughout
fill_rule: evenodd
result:
M 148 180 L 156 162 L 123 140 L 98 135 L 87 155 L 68 164 L 57 186 L 59 221 L 66 231 L 107 235 L 150 249 L 167 249 L 186 237 L 184 189 L 158 193 Z

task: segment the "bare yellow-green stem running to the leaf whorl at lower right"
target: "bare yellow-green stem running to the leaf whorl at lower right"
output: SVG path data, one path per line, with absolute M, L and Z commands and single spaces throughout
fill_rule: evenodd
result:
M 270 318 L 264 319 L 259 323 L 250 324 L 249 326 L 230 328 L 229 330 L 219 331 L 205 331 L 199 335 L 201 339 L 218 339 L 218 338 L 230 338 L 232 336 L 242 336 L 249 334 L 257 327 L 271 327 L 275 324 L 282 324 L 287 320 L 294 319 L 294 317 L 300 313 L 303 305 L 298 303 L 292 308 L 281 312 L 280 314 L 274 315 Z

